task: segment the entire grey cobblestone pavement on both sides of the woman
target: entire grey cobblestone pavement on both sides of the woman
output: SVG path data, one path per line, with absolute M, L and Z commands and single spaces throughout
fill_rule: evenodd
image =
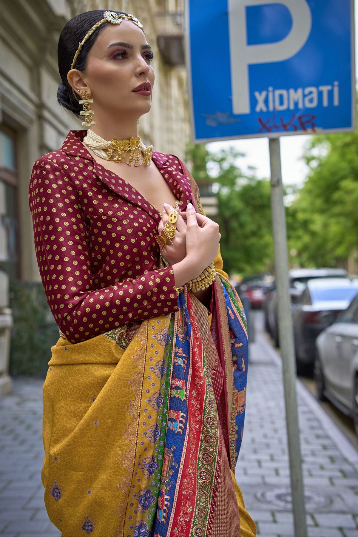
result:
M 254 311 L 243 444 L 236 478 L 258 535 L 291 536 L 293 517 L 280 356 Z M 14 380 L 0 400 L 0 535 L 60 535 L 49 521 L 40 481 L 42 384 Z M 358 451 L 297 381 L 308 535 L 358 536 Z

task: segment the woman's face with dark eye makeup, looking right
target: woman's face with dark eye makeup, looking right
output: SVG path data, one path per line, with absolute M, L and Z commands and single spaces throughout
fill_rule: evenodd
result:
M 122 20 L 104 28 L 90 49 L 83 73 L 93 107 L 138 117 L 149 112 L 155 78 L 151 60 L 147 39 L 134 23 Z M 148 95 L 133 91 L 144 82 L 150 84 Z

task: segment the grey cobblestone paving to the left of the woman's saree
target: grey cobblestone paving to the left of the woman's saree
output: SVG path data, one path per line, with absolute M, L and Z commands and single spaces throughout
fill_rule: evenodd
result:
M 0 535 L 61 535 L 43 503 L 42 384 L 16 379 L 0 398 Z

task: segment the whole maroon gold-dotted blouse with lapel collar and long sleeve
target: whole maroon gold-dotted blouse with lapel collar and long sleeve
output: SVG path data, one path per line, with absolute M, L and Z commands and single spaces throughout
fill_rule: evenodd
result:
M 47 302 L 71 343 L 178 309 L 172 267 L 159 269 L 161 216 L 98 164 L 70 131 L 61 149 L 34 163 L 29 202 Z M 173 155 L 152 160 L 185 210 L 189 178 Z

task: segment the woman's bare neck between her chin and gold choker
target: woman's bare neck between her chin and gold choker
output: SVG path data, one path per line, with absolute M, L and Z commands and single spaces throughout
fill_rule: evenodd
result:
M 131 137 L 138 136 L 138 118 L 124 116 L 118 120 L 110 114 L 101 114 L 100 118 L 94 115 L 93 119 L 96 125 L 92 125 L 91 130 L 104 140 L 130 140 Z

